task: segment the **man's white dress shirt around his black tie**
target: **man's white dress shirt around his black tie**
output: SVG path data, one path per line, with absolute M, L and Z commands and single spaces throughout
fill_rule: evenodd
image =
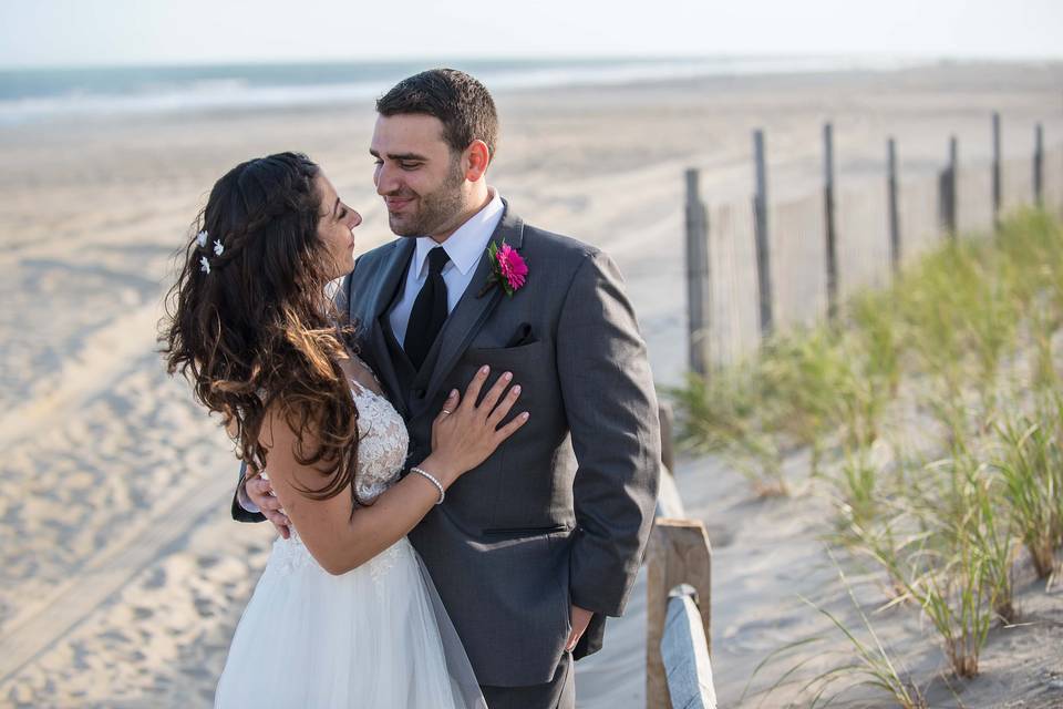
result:
M 443 282 L 446 284 L 446 312 L 454 311 L 454 306 L 462 299 L 462 294 L 468 288 L 473 274 L 476 271 L 476 265 L 481 256 L 487 250 L 487 244 L 491 242 L 491 235 L 502 220 L 503 204 L 498 191 L 488 187 L 491 191 L 491 202 L 474 214 L 468 222 L 457 228 L 456 232 L 446 237 L 443 244 L 437 244 L 430 236 L 419 236 L 417 245 L 413 253 L 413 259 L 410 268 L 406 270 L 406 282 L 402 288 L 402 297 L 392 311 L 389 314 L 391 331 L 395 335 L 395 340 L 405 346 L 406 326 L 410 325 L 410 311 L 413 310 L 413 301 L 417 299 L 421 287 L 429 277 L 429 251 L 436 246 L 446 249 L 446 255 L 451 260 L 443 266 Z

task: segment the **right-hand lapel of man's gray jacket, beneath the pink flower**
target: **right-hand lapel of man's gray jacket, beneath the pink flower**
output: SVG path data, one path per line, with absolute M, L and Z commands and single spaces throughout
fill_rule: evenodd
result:
M 524 222 L 509 210 L 509 204 L 505 199 L 503 199 L 503 204 L 505 210 L 491 240 L 498 246 L 502 246 L 502 242 L 505 240 L 513 248 L 519 249 L 524 244 Z M 473 274 L 472 281 L 469 281 L 465 292 L 462 294 L 461 300 L 454 306 L 454 311 L 451 312 L 440 331 L 442 340 L 440 352 L 435 360 L 435 367 L 432 368 L 432 378 L 429 380 L 429 389 L 424 401 L 433 400 L 443 384 L 443 380 L 454 369 L 462 353 L 468 349 L 473 337 L 476 336 L 484 322 L 487 321 L 487 317 L 505 297 L 505 291 L 500 286 L 495 286 L 479 298 L 476 297 L 476 294 L 487 282 L 491 266 L 487 250 L 484 249 L 479 261 L 476 264 L 476 271 Z

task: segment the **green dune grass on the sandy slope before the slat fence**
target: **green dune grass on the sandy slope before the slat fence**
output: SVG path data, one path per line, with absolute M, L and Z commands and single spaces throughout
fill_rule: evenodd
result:
M 953 674 L 972 677 L 993 624 L 1020 616 L 1019 551 L 1045 578 L 1063 547 L 1061 329 L 1063 227 L 1028 210 L 858 294 L 837 322 L 668 393 L 681 444 L 726 452 L 757 494 L 787 493 L 783 453 L 807 450 L 834 542 L 873 558 L 884 605 L 920 608 Z M 905 432 L 929 439 L 925 460 L 890 443 Z M 889 464 L 871 455 L 884 446 Z

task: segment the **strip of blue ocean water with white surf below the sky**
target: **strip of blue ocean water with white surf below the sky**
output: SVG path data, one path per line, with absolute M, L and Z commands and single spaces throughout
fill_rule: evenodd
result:
M 430 66 L 468 71 L 492 91 L 671 79 L 881 70 L 878 58 L 466 60 L 0 71 L 0 125 L 25 122 L 352 103 Z

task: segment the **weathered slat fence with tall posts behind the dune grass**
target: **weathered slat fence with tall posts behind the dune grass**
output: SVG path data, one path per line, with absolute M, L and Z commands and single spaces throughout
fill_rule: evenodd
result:
M 1038 124 L 1030 158 L 1004 160 L 999 114 L 990 127 L 988 164 L 964 164 L 952 136 L 936 176 L 900 174 L 900 146 L 888 138 L 880 191 L 839 183 L 829 123 L 822 189 L 799 199 L 768 199 L 763 131 L 753 134 L 756 181 L 749 204 L 706 205 L 699 171 L 688 169 L 690 369 L 704 374 L 744 358 L 775 329 L 836 317 L 847 296 L 885 286 L 904 263 L 943 238 L 992 232 L 1016 207 L 1038 205 L 1063 216 L 1063 145 L 1046 152 Z

